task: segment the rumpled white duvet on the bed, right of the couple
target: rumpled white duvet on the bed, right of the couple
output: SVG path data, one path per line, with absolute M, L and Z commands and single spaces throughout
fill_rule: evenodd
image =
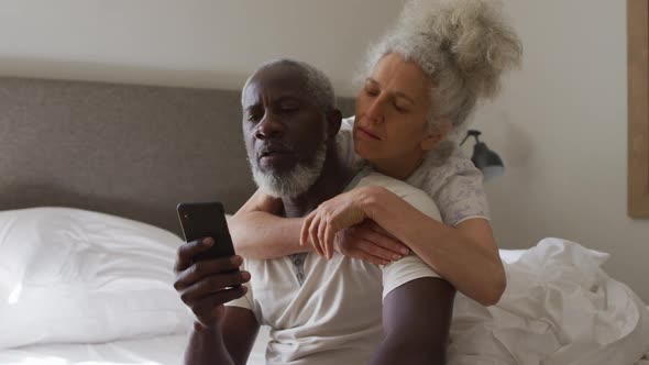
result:
M 634 364 L 649 351 L 649 311 L 601 265 L 607 254 L 546 239 L 506 263 L 494 307 L 455 299 L 450 364 Z

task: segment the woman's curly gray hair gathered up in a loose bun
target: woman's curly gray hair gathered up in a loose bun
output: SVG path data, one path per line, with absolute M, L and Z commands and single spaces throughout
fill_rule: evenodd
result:
M 433 81 L 429 126 L 464 126 L 480 98 L 497 95 L 503 71 L 520 65 L 522 44 L 496 0 L 411 0 L 369 52 L 362 78 L 385 55 L 414 62 Z M 459 132 L 459 131 L 458 131 Z

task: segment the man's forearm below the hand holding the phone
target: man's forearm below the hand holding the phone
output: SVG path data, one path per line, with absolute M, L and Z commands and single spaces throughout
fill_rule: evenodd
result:
M 185 350 L 186 365 L 235 365 L 226 349 L 221 330 L 201 329 L 196 324 Z

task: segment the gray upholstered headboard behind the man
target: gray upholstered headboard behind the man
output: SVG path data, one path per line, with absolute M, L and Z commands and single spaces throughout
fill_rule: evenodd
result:
M 176 203 L 233 212 L 253 190 L 238 91 L 0 78 L 0 210 L 75 207 L 178 232 Z

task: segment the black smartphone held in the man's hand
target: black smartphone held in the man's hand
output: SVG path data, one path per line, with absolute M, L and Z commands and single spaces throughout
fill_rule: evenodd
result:
M 177 207 L 178 219 L 186 242 L 212 237 L 215 244 L 194 257 L 194 261 L 234 255 L 234 245 L 226 221 L 226 210 L 219 201 L 183 202 Z

